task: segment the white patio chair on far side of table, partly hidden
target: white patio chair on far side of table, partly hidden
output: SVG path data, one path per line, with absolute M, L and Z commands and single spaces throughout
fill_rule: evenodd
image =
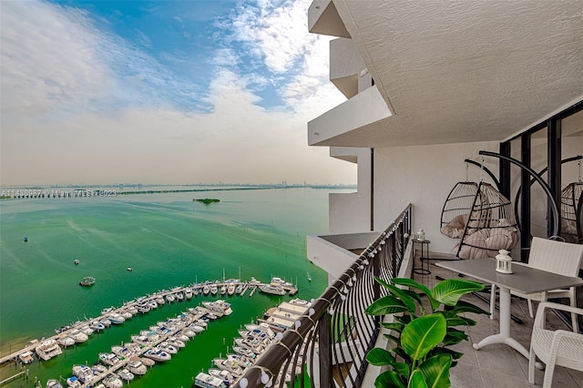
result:
M 535 237 L 530 246 L 528 266 L 560 275 L 578 276 L 581 260 L 583 260 L 583 245 Z M 570 287 L 568 290 L 552 290 L 528 295 L 512 291 L 512 295 L 527 299 L 530 318 L 534 318 L 532 301 L 547 301 L 548 298 L 568 298 L 570 305 L 577 307 L 575 287 Z M 495 302 L 496 285 L 492 285 L 490 294 L 491 313 L 494 312 Z M 573 331 L 578 332 L 577 314 L 571 313 L 571 320 L 573 323 Z

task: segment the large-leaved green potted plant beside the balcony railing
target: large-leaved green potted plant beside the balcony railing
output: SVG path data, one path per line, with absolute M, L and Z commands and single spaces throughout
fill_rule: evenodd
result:
M 385 336 L 395 343 L 390 350 L 374 348 L 366 360 L 377 366 L 388 366 L 378 375 L 376 388 L 449 387 L 449 370 L 463 353 L 447 346 L 467 341 L 459 326 L 474 326 L 476 321 L 465 312 L 489 315 L 476 305 L 460 298 L 466 293 L 481 291 L 484 284 L 465 279 L 447 279 L 435 284 L 433 290 L 407 278 L 394 278 L 387 283 L 375 278 L 388 295 L 373 301 L 366 308 L 369 315 L 394 314 L 394 322 L 381 323 L 390 329 Z M 404 286 L 400 288 L 398 286 Z M 424 306 L 424 299 L 428 301 Z

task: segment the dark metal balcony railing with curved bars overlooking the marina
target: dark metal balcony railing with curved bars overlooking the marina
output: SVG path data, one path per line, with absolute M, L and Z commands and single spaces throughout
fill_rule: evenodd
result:
M 377 340 L 380 317 L 364 309 L 384 296 L 374 277 L 385 281 L 399 272 L 411 235 L 412 206 L 381 233 L 360 257 L 312 301 L 295 328 L 277 335 L 236 387 L 360 387 L 366 353 Z

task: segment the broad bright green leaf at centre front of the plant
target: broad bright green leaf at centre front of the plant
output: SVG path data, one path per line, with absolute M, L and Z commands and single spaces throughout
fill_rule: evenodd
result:
M 445 318 L 440 313 L 414 319 L 401 334 L 401 347 L 414 361 L 422 360 L 445 338 Z

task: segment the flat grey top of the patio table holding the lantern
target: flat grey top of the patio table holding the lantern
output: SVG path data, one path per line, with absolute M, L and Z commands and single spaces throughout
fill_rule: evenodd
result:
M 525 294 L 564 289 L 583 285 L 583 280 L 553 272 L 535 270 L 527 265 L 513 262 L 514 273 L 496 271 L 496 259 L 437 261 L 435 265 L 446 270 L 471 276 L 479 281 L 494 283 L 513 291 Z

